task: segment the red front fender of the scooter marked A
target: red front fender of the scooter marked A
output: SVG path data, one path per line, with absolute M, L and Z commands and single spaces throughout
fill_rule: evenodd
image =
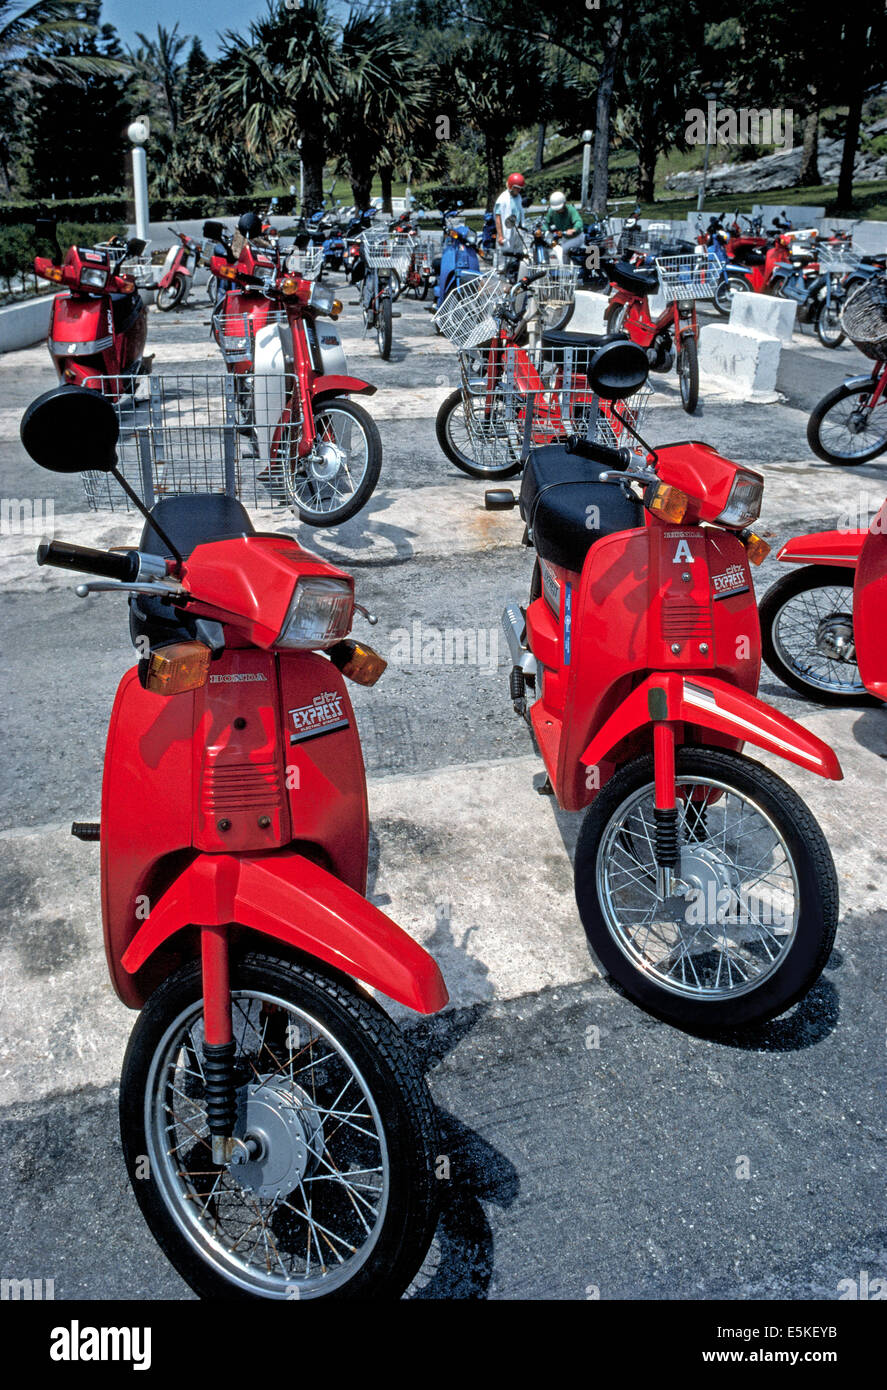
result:
M 730 738 L 741 738 L 831 781 L 844 776 L 834 752 L 822 738 L 765 705 L 756 695 L 710 676 L 681 676 L 677 671 L 649 676 L 633 689 L 598 730 L 580 760 L 596 766 L 635 728 L 662 719 L 701 724 Z

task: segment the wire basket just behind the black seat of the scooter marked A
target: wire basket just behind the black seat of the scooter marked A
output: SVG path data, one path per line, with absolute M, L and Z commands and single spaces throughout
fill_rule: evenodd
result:
M 652 398 L 644 386 L 616 409 L 588 384 L 589 348 L 541 348 L 528 354 L 512 343 L 459 353 L 469 448 L 482 468 L 506 468 L 530 449 L 569 435 L 599 443 L 640 446 L 616 410 L 638 428 Z

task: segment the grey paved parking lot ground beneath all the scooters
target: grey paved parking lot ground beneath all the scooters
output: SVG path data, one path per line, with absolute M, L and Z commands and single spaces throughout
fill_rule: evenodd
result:
M 346 292 L 346 299 L 350 295 Z M 405 1019 L 441 1108 L 450 1183 L 416 1297 L 836 1298 L 841 1279 L 887 1273 L 883 1219 L 883 710 L 823 710 L 765 671 L 762 695 L 829 738 L 845 781 L 780 764 L 829 835 L 843 916 L 822 981 L 754 1033 L 699 1040 L 605 984 L 571 892 L 577 817 L 532 792 L 538 763 L 507 701 L 498 638 L 528 555 L 516 513 L 482 512 L 484 484 L 434 438 L 456 384 L 424 306 L 405 303 L 381 363 L 356 311 L 349 364 L 385 448 L 367 510 L 299 538 L 356 569 L 396 628 L 478 628 L 498 662 L 391 666 L 356 691 L 373 816 L 371 894 L 435 952 L 452 1006 Z M 150 314 L 156 370 L 215 371 L 202 299 Z M 829 468 L 805 442 L 809 407 L 844 373 L 795 338 L 776 406 L 703 388 L 695 417 L 656 378 L 653 442 L 702 438 L 763 467 L 762 524 L 776 543 L 880 505 L 884 464 Z M 24 406 L 53 385 L 43 348 L 0 357 L 0 496 L 47 496 L 56 532 L 135 535 L 125 514 L 85 513 L 76 480 L 35 480 L 18 443 Z M 38 571 L 33 538 L 0 541 L 4 771 L 0 802 L 0 1273 L 53 1277 L 58 1298 L 188 1298 L 150 1240 L 118 1150 L 115 1083 L 131 1015 L 101 955 L 97 849 L 70 821 L 97 819 L 114 687 L 131 664 L 122 603 L 76 599 Z M 776 574 L 760 573 L 760 592 Z M 599 1047 L 587 1047 L 589 1027 Z M 742 1159 L 748 1159 L 742 1163 Z M 737 1173 L 748 1170 L 747 1179 Z

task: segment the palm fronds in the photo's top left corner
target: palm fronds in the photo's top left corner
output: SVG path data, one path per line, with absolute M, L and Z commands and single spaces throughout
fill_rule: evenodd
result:
M 0 170 L 7 193 L 22 97 L 40 83 L 127 71 L 125 63 L 97 53 L 53 51 L 57 43 L 95 39 L 99 13 L 100 0 L 0 0 Z

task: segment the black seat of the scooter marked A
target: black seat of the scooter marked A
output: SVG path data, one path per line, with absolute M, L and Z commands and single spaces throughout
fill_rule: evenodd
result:
M 544 560 L 581 574 L 595 541 L 644 525 L 644 507 L 615 482 L 598 482 L 601 464 L 563 445 L 535 449 L 524 470 L 520 513 Z M 591 509 L 596 507 L 596 512 Z M 596 525 L 588 523 L 594 518 Z

